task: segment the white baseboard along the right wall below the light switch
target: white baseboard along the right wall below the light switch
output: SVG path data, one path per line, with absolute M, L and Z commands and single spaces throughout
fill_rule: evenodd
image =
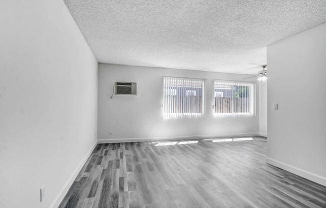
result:
M 294 167 L 292 165 L 286 164 L 284 162 L 281 162 L 281 161 L 278 161 L 278 160 L 275 160 L 275 159 L 272 159 L 272 158 L 269 158 L 269 157 L 266 157 L 266 162 L 268 164 L 274 165 L 276 167 L 287 170 L 287 171 L 292 172 L 294 174 L 297 174 L 297 175 L 299 175 L 301 177 L 307 178 L 307 179 L 312 180 L 312 181 L 314 181 L 316 183 L 319 183 L 321 185 L 326 186 L 326 177 L 314 174 L 312 172 L 306 171 L 304 169 L 300 169 L 298 167 Z

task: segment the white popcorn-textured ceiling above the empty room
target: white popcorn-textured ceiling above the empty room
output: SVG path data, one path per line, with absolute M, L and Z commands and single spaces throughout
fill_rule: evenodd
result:
M 326 21 L 326 0 L 65 0 L 98 62 L 256 73 L 266 46 Z

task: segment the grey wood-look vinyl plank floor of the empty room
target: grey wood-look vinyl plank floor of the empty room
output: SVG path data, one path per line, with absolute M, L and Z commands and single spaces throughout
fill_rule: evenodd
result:
M 326 207 L 325 186 L 265 163 L 252 138 L 97 144 L 59 208 Z

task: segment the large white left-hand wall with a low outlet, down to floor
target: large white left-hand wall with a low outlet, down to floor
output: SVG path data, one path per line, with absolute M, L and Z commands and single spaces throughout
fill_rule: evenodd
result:
M 56 207 L 96 143 L 97 61 L 62 0 L 0 19 L 0 207 Z

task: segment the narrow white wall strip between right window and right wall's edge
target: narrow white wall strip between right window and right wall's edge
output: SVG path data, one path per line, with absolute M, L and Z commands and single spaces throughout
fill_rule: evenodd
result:
M 267 136 L 267 81 L 259 82 L 259 135 Z

